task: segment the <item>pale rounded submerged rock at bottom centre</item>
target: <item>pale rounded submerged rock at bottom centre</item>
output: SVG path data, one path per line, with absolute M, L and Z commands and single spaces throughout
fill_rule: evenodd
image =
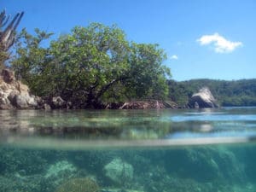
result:
M 108 177 L 113 183 L 124 184 L 133 178 L 133 167 L 119 158 L 113 159 L 104 166 L 105 177 Z

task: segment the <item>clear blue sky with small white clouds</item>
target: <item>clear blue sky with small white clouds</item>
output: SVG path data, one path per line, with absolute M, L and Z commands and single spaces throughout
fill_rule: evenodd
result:
M 91 22 L 116 24 L 130 41 L 159 44 L 172 79 L 255 79 L 255 0 L 0 0 L 18 31 L 70 32 Z

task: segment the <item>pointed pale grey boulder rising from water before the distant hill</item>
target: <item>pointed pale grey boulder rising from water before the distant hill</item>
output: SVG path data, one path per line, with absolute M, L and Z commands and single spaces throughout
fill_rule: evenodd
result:
M 201 88 L 189 100 L 189 108 L 218 108 L 215 98 L 211 91 L 207 88 Z

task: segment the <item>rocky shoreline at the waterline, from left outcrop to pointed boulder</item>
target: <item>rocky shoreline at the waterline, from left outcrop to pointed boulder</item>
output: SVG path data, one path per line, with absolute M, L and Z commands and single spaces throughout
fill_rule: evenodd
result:
M 110 103 L 105 109 L 152 109 L 152 108 L 218 108 L 211 91 L 204 87 L 195 93 L 186 106 L 180 107 L 172 101 L 134 100 L 123 103 Z M 0 75 L 0 109 L 76 109 L 72 102 L 61 96 L 42 98 L 33 96 L 26 84 L 15 79 L 15 73 L 5 68 Z

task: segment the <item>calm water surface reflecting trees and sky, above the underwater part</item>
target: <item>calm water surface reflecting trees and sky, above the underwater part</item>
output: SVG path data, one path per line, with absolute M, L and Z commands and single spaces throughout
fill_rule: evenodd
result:
M 253 137 L 255 112 L 256 108 L 0 111 L 0 136 L 90 140 Z

